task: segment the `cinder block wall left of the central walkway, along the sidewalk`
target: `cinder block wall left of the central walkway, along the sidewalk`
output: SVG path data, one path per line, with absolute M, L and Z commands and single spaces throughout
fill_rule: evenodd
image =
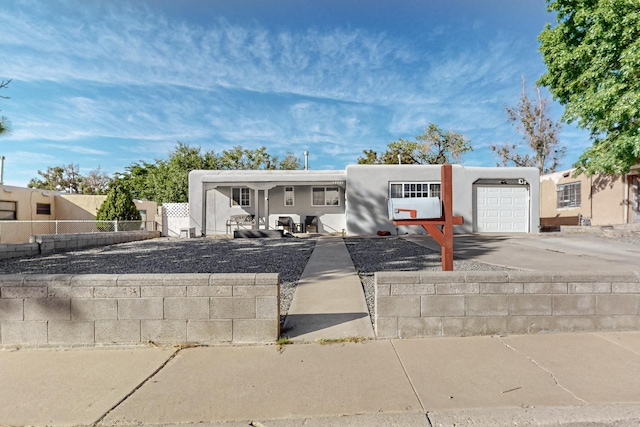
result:
M 2 346 L 265 343 L 278 274 L 0 276 Z

